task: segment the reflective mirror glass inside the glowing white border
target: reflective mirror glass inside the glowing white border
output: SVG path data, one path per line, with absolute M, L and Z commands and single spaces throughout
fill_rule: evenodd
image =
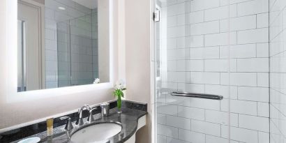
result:
M 108 2 L 17 1 L 18 92 L 109 82 Z

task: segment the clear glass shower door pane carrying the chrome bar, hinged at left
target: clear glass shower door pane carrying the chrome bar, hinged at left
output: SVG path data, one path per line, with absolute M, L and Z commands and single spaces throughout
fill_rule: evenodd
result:
M 156 142 L 229 142 L 229 6 L 226 1 L 156 1 Z M 234 88 L 234 89 L 233 89 Z M 172 96 L 173 91 L 223 100 Z

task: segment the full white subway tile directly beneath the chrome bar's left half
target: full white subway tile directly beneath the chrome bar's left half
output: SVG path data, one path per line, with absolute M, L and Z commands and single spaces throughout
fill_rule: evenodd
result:
M 178 106 L 178 116 L 188 119 L 204 120 L 204 110 L 194 107 Z

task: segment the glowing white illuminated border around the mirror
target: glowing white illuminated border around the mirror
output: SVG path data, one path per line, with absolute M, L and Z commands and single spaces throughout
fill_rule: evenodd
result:
M 100 84 L 86 84 L 80 86 L 66 86 L 54 89 L 40 89 L 36 91 L 17 92 L 17 0 L 7 1 L 7 73 L 8 80 L 6 81 L 6 102 L 15 103 L 25 100 L 37 100 L 41 98 L 51 98 L 54 96 L 64 96 L 68 94 L 81 93 L 86 91 L 96 91 L 98 89 L 111 89 L 114 83 L 114 44 L 113 44 L 113 29 L 112 29 L 112 0 L 109 0 L 109 46 L 110 46 L 110 82 Z

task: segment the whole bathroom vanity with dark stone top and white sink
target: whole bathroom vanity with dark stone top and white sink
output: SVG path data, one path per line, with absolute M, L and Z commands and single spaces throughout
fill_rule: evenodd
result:
M 114 102 L 111 103 L 111 105 L 114 105 Z M 14 137 L 31 132 L 31 128 L 23 127 L 16 133 L 12 133 L 8 136 L 6 135 L 6 137 L 4 135 L 0 142 L 17 143 L 20 140 L 24 140 L 29 137 L 40 137 L 40 142 L 77 142 L 77 140 L 80 140 L 81 143 L 91 141 L 134 143 L 137 130 L 146 125 L 146 104 L 142 103 L 133 103 L 125 100 L 123 101 L 121 114 L 117 113 L 117 109 L 114 106 L 110 110 L 110 116 L 102 117 L 99 110 L 96 110 L 95 113 L 96 114 L 93 114 L 93 118 L 95 120 L 91 123 L 87 121 L 87 114 L 83 114 L 84 124 L 82 126 L 75 124 L 77 119 L 73 118 L 73 116 L 78 116 L 77 113 L 66 115 L 72 117 L 71 119 L 74 128 L 70 131 L 65 129 L 65 121 L 59 121 L 55 118 L 53 135 L 50 137 L 47 137 L 47 130 L 44 130 L 43 132 L 15 140 Z M 40 128 L 39 125 L 40 124 L 35 124 L 31 126 L 38 126 Z M 36 130 L 33 131 L 35 132 Z

